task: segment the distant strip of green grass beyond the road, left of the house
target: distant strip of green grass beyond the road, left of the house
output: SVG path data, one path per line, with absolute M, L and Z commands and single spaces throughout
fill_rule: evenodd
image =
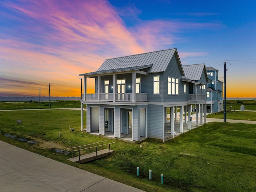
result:
M 52 101 L 51 108 L 77 108 L 81 107 L 80 101 Z M 84 107 L 86 107 L 84 105 Z M 12 109 L 46 109 L 49 107 L 48 101 L 43 102 L 0 102 L 0 110 L 12 110 Z

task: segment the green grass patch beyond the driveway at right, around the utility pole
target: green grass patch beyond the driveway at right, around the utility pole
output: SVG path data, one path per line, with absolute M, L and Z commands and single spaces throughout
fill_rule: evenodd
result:
M 227 111 L 227 119 L 256 121 L 256 112 L 248 111 Z M 208 114 L 207 118 L 223 119 L 223 112 Z

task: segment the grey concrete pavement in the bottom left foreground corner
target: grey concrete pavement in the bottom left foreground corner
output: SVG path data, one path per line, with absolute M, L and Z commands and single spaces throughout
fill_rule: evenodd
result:
M 2 141 L 0 191 L 143 192 Z

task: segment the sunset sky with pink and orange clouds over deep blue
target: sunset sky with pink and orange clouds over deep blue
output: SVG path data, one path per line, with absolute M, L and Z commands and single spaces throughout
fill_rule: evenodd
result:
M 80 96 L 108 58 L 177 48 L 256 97 L 254 0 L 0 0 L 0 96 Z M 90 92 L 90 86 L 88 86 Z

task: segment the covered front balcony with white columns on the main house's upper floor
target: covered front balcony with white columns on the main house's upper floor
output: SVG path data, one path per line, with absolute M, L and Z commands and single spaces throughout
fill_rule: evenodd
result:
M 87 78 L 94 79 L 94 93 L 82 94 L 82 102 L 147 102 L 145 87 L 146 71 L 152 65 L 136 66 L 106 71 L 97 71 L 84 76 L 84 90 Z M 143 93 L 144 92 L 144 93 Z

